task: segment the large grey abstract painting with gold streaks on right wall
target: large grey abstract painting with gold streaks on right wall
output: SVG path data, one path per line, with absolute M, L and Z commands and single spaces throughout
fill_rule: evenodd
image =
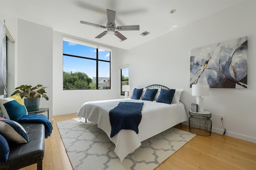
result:
M 190 87 L 247 88 L 247 58 L 247 36 L 192 49 Z

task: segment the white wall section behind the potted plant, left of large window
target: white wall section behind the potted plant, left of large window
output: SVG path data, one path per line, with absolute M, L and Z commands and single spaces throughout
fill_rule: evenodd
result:
M 53 29 L 18 19 L 17 83 L 46 86 L 49 100 L 40 100 L 40 107 L 49 108 L 52 120 L 52 36 Z

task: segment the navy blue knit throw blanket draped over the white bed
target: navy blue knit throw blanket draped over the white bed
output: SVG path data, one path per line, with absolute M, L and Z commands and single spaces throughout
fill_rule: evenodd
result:
M 109 120 L 111 125 L 110 137 L 116 135 L 121 129 L 134 130 L 139 133 L 143 102 L 120 102 L 118 106 L 109 111 Z

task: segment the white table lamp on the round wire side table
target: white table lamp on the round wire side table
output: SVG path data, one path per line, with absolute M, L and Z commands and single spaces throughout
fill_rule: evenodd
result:
M 209 96 L 209 85 L 192 84 L 192 96 L 198 96 L 196 98 L 196 104 L 198 104 L 198 112 L 204 112 L 204 98 L 201 96 Z

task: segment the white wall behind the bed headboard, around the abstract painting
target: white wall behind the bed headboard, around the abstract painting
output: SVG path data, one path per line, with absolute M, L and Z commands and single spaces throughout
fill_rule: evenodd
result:
M 213 132 L 223 133 L 219 115 L 225 115 L 226 135 L 256 143 L 255 6 L 253 1 L 241 2 L 129 51 L 119 50 L 118 64 L 129 64 L 131 89 L 150 84 L 184 89 L 181 101 L 188 114 L 196 103 L 190 88 L 190 50 L 248 36 L 248 88 L 211 88 L 204 109 L 212 113 Z

